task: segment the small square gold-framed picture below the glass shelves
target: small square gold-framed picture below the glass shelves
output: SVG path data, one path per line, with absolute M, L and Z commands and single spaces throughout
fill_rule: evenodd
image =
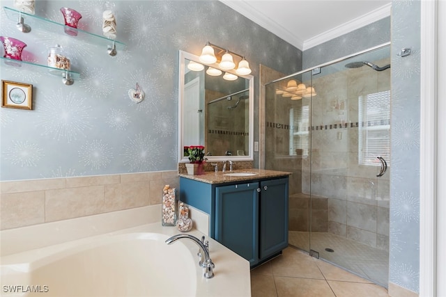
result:
M 33 109 L 33 85 L 15 81 L 1 81 L 1 107 Z

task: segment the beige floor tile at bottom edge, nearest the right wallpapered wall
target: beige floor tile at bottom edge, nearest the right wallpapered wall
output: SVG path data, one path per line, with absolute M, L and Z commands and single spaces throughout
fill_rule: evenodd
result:
M 328 284 L 336 296 L 342 297 L 388 297 L 387 290 L 378 284 L 361 284 L 357 282 L 336 282 L 329 280 Z

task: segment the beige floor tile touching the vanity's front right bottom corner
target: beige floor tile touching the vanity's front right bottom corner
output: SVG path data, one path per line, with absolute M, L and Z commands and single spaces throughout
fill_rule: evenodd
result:
M 295 248 L 286 248 L 282 256 L 271 262 L 272 274 L 293 278 L 314 278 L 325 280 L 316 265 L 316 259 Z

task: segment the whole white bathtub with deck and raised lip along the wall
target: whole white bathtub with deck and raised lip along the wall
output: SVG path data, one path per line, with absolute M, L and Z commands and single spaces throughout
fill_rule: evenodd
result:
M 204 278 L 196 243 L 167 245 L 176 227 L 143 223 L 160 212 L 157 204 L 0 231 L 0 295 L 251 296 L 247 260 L 191 230 L 209 241 L 215 276 Z

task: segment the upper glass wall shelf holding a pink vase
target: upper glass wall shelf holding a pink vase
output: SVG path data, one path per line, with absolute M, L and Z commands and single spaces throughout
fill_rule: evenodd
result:
M 116 55 L 116 49 L 122 50 L 125 47 L 123 42 L 119 42 L 117 40 L 112 40 L 106 38 L 105 36 L 97 35 L 94 33 L 90 33 L 84 31 L 82 29 L 75 29 L 70 26 L 66 26 L 65 24 L 59 24 L 50 19 L 45 19 L 43 17 L 39 17 L 37 15 L 29 15 L 27 13 L 22 13 L 19 10 L 15 10 L 13 8 L 9 8 L 3 6 L 3 10 L 5 10 L 8 19 L 11 19 L 13 22 L 20 22 L 20 17 L 23 17 L 24 24 L 31 26 L 32 28 L 43 29 L 49 32 L 60 32 L 64 33 L 65 29 L 68 29 L 71 32 L 74 32 L 75 35 L 72 35 L 73 38 L 79 38 L 82 41 L 107 46 L 107 51 L 110 56 Z

